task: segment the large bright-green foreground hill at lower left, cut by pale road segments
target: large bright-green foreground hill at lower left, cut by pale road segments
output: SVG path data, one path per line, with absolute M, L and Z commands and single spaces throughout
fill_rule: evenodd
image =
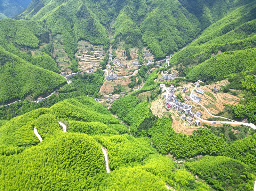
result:
M 60 115 L 58 110 L 67 110 L 62 104 L 77 110 Z M 91 112 L 101 117 L 92 119 Z M 58 121 L 68 124 L 67 133 L 63 133 Z M 171 159 L 156 154 L 149 139 L 118 135 L 109 123 L 122 126 L 100 103 L 88 97 L 64 100 L 51 108 L 13 118 L 0 127 L 1 187 L 113 190 L 125 179 L 135 190 L 144 187 L 166 190 L 166 184 L 181 190 L 208 190 L 207 185 L 196 182 L 185 169 L 176 171 L 177 165 Z M 96 125 L 98 132 L 91 134 L 89 129 L 95 129 Z M 34 127 L 43 138 L 41 143 L 33 132 Z M 108 150 L 110 174 L 106 174 L 102 146 Z M 129 188 L 126 184 L 119 186 Z

